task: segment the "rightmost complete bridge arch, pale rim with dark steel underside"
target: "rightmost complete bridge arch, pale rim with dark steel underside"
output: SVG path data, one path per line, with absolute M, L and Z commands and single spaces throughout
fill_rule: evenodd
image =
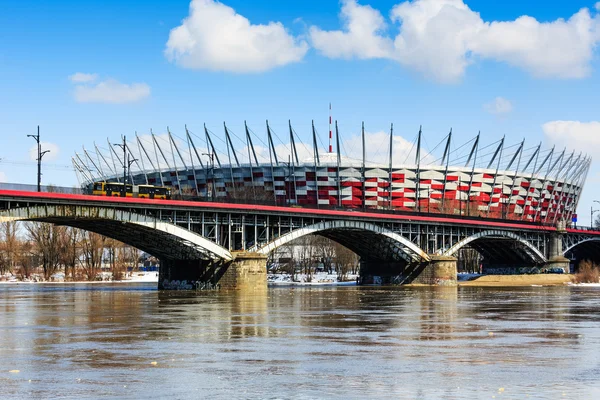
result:
M 493 246 L 498 247 L 508 258 L 509 254 L 515 254 L 519 256 L 523 261 L 532 261 L 536 264 L 545 263 L 547 261 L 546 256 L 537 249 L 534 245 L 523 239 L 521 236 L 513 232 L 500 231 L 500 230 L 487 230 L 478 232 L 461 241 L 455 243 L 452 247 L 442 253 L 444 256 L 454 256 L 461 248 L 472 244 L 474 242 L 482 242 L 484 239 L 493 239 Z M 503 240 L 504 239 L 504 240 Z M 510 246 L 508 244 L 512 244 Z M 514 246 L 514 245 L 517 246 Z M 494 258 L 491 252 L 488 252 L 489 246 L 485 243 L 476 246 L 476 250 L 480 253 L 488 253 L 490 258 Z

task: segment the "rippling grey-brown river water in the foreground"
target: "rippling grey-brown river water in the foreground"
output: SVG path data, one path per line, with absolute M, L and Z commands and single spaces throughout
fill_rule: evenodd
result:
M 0 285 L 0 398 L 600 398 L 600 288 L 154 285 Z

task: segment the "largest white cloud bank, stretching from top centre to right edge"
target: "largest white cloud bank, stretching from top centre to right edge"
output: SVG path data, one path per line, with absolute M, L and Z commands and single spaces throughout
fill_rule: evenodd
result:
M 387 58 L 445 83 L 460 80 L 478 59 L 504 62 L 537 77 L 581 78 L 589 74 L 600 41 L 600 18 L 587 8 L 568 20 L 522 16 L 488 22 L 463 0 L 405 1 L 390 13 L 398 28 L 395 37 L 384 35 L 379 11 L 356 0 L 343 1 L 341 16 L 345 31 L 310 30 L 313 45 L 324 55 Z

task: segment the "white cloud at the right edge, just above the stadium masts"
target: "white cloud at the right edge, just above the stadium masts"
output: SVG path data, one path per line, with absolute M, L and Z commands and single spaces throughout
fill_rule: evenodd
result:
M 600 147 L 600 122 L 550 121 L 542 125 L 546 139 L 558 147 L 589 153 Z

